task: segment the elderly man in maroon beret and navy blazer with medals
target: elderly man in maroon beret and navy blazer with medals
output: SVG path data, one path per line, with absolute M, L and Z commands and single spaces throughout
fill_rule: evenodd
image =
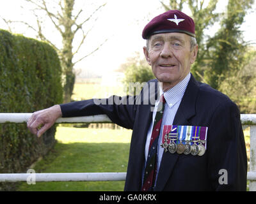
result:
M 106 103 L 90 99 L 55 105 L 33 113 L 28 128 L 40 136 L 58 117 L 106 114 L 133 130 L 125 191 L 245 191 L 247 158 L 239 110 L 190 73 L 198 52 L 193 19 L 166 11 L 145 26 L 142 36 L 156 79 L 139 96 L 118 98 L 121 103 L 112 96 Z M 152 83 L 157 84 L 154 98 L 160 96 L 154 104 L 145 97 L 152 95 Z

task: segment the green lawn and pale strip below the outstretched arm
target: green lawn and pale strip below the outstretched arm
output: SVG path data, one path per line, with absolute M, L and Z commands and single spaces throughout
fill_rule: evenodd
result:
M 36 173 L 125 172 L 131 130 L 58 127 L 56 143 L 33 167 Z M 123 191 L 124 181 L 36 182 L 18 191 Z

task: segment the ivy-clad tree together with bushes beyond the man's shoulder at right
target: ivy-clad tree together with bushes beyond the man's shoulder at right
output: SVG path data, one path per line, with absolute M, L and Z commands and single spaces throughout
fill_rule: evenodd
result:
M 228 1 L 220 30 L 207 42 L 209 63 L 205 81 L 235 101 L 241 113 L 256 112 L 256 52 L 244 41 L 240 30 L 253 3 L 252 0 Z

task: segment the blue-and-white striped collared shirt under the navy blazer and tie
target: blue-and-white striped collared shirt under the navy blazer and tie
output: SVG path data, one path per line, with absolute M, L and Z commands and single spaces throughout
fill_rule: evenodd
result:
M 172 89 L 169 89 L 168 91 L 166 91 L 164 93 L 163 93 L 163 87 L 160 87 L 159 96 L 164 94 L 166 103 L 164 105 L 163 120 L 162 120 L 162 124 L 161 124 L 161 130 L 159 133 L 160 135 L 159 135 L 158 147 L 157 147 L 157 174 L 159 171 L 159 166 L 160 166 L 161 159 L 162 159 L 163 152 L 164 152 L 164 149 L 161 147 L 163 126 L 173 124 L 174 117 L 177 113 L 177 110 L 179 108 L 179 105 L 180 105 L 181 99 L 184 95 L 184 92 L 186 91 L 190 77 L 191 77 L 191 74 L 189 73 L 181 82 L 179 82 L 177 85 L 172 87 Z M 153 129 L 153 121 L 156 117 L 156 110 L 157 110 L 158 104 L 159 104 L 159 100 L 156 101 L 156 106 L 155 106 L 154 112 L 152 114 L 152 122 L 150 124 L 150 127 L 148 128 L 147 141 L 146 141 L 146 145 L 145 145 L 145 166 L 147 163 L 148 147 L 149 147 L 150 138 L 151 138 L 152 129 Z M 156 175 L 156 178 L 157 178 L 157 175 Z

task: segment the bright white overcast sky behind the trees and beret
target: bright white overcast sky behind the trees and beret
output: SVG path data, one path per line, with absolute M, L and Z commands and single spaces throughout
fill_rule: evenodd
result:
M 54 0 L 51 0 L 54 2 Z M 141 37 L 143 28 L 156 15 L 163 13 L 163 6 L 159 3 L 159 0 L 94 0 L 94 5 L 86 4 L 89 1 L 76 0 L 75 9 L 83 8 L 84 13 L 92 13 L 97 6 L 107 3 L 95 17 L 97 21 L 93 25 L 92 31 L 88 33 L 84 46 L 81 47 L 80 52 L 74 57 L 74 61 L 89 54 L 95 48 L 99 47 L 106 39 L 106 43 L 100 47 L 97 52 L 86 57 L 83 61 L 77 62 L 75 68 L 80 76 L 83 75 L 84 70 L 97 71 L 104 75 L 115 69 L 118 69 L 120 64 L 125 63 L 128 57 L 135 55 L 135 52 L 140 52 L 143 57 L 143 46 L 145 46 L 145 40 Z M 227 1 L 221 0 L 218 4 L 218 10 L 225 10 L 225 4 Z M 0 0 L 0 16 L 6 19 L 12 20 L 26 20 L 35 24 L 35 17 L 28 11 L 28 6 L 23 0 Z M 23 6 L 24 9 L 21 8 Z M 253 6 L 254 11 L 256 6 Z M 189 10 L 188 13 L 189 15 Z M 82 14 L 81 14 L 82 16 Z M 85 14 L 83 14 L 83 17 Z M 250 13 L 245 18 L 245 22 L 241 29 L 244 31 L 244 39 L 250 40 L 256 43 L 255 36 L 255 20 L 256 13 Z M 82 18 L 81 18 L 82 20 Z M 45 18 L 47 22 L 46 35 L 54 41 L 57 46 L 61 45 L 60 35 L 51 27 L 51 22 Z M 90 27 L 92 22 L 86 24 Z M 0 28 L 7 29 L 6 24 L 0 19 Z M 218 29 L 218 25 L 211 27 L 210 31 L 206 34 L 214 34 Z M 35 38 L 35 33 L 29 31 L 24 25 L 15 24 L 13 28 L 15 32 L 22 33 L 25 36 Z M 81 36 L 80 36 L 81 37 Z M 77 34 L 79 39 L 79 33 Z M 81 39 L 81 38 L 80 38 Z M 74 50 L 78 45 L 78 41 L 74 41 Z

